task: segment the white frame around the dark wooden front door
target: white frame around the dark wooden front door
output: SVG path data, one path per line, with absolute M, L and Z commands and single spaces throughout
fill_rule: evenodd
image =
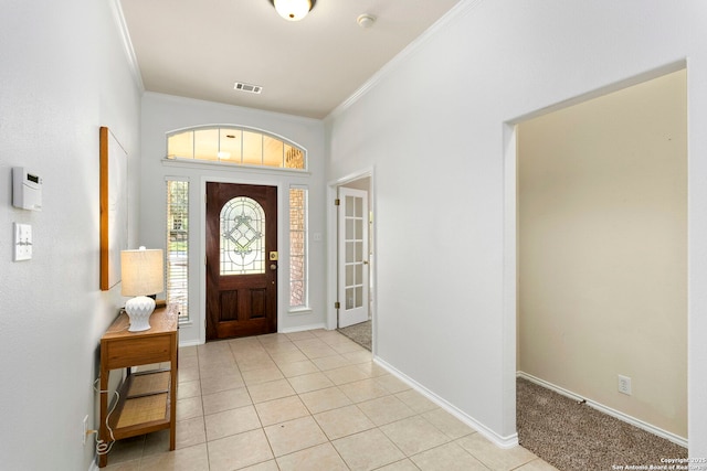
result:
M 204 344 L 207 342 L 207 183 L 215 182 L 215 183 L 236 183 L 244 185 L 264 185 L 264 186 L 275 186 L 277 188 L 277 251 L 279 253 L 279 261 L 277 269 L 277 331 L 279 332 L 282 324 L 283 310 L 282 302 L 283 298 L 287 298 L 283 296 L 282 289 L 284 283 L 288 282 L 287 279 L 283 279 L 283 276 L 288 276 L 289 274 L 289 244 L 283 244 L 285 240 L 284 226 L 282 223 L 283 212 L 285 210 L 283 202 L 283 194 L 287 193 L 285 190 L 288 188 L 287 184 L 279 182 L 277 180 L 273 180 L 272 178 L 265 179 L 253 179 L 253 178 L 242 178 L 234 175 L 204 175 L 201 176 L 199 182 L 199 258 L 200 260 L 197 265 L 199 266 L 199 319 L 194 319 L 198 322 L 197 329 L 199 332 L 199 342 Z M 284 275 L 283 275 L 284 274 Z

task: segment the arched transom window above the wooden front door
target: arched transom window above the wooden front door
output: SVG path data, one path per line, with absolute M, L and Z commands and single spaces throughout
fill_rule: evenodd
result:
M 305 170 L 304 149 L 250 128 L 209 127 L 167 136 L 168 159 L 194 159 L 234 165 Z

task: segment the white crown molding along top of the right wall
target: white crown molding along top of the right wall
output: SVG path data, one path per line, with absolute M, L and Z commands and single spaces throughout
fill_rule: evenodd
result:
M 439 19 L 434 24 L 428 28 L 421 35 L 414 39 L 405 49 L 399 52 L 393 58 L 391 58 L 386 65 L 383 65 L 377 73 L 374 73 L 363 85 L 361 85 L 354 94 L 351 94 L 348 98 L 341 101 L 336 108 L 334 108 L 324 120 L 327 121 L 329 119 L 336 118 L 340 116 L 344 111 L 350 108 L 356 101 L 358 101 L 363 95 L 366 95 L 371 88 L 376 86 L 380 81 L 382 81 L 393 68 L 398 67 L 398 65 L 408 60 L 411 55 L 413 55 L 420 47 L 422 47 L 432 36 L 434 36 L 439 31 L 445 30 L 449 28 L 449 24 L 452 21 L 456 21 L 462 15 L 466 14 L 468 11 L 473 10 L 482 0 L 462 0 L 450 11 L 447 11 L 441 19 Z

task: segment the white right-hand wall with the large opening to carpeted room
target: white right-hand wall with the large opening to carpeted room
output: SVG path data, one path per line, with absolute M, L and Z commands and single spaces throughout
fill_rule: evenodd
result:
M 505 124 L 687 58 L 688 422 L 690 453 L 707 456 L 705 24 L 697 0 L 462 1 L 327 120 L 328 181 L 376 167 L 379 357 L 502 445 L 516 440 L 515 139 Z

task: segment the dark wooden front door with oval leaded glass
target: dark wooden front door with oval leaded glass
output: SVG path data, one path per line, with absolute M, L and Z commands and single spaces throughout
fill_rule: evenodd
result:
M 207 183 L 207 340 L 277 332 L 277 188 Z

